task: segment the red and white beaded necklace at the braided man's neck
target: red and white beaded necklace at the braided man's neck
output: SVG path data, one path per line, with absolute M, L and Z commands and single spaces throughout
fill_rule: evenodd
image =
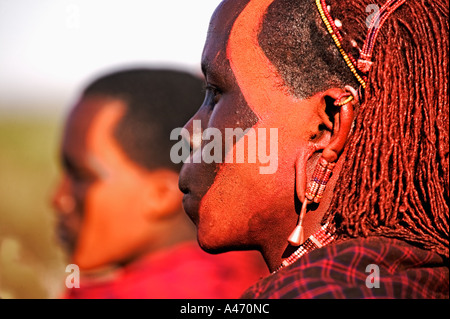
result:
M 324 247 L 331 243 L 335 239 L 334 228 L 328 227 L 328 224 L 323 225 L 314 234 L 308 237 L 308 239 L 300 245 L 300 247 L 293 252 L 288 258 L 284 259 L 281 265 L 273 272 L 276 273 L 280 269 L 290 266 L 299 260 L 307 253 L 314 249 Z

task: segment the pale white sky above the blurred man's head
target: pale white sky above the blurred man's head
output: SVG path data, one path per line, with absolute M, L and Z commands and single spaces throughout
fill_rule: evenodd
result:
M 199 71 L 220 0 L 0 0 L 0 110 L 67 108 L 103 72 Z

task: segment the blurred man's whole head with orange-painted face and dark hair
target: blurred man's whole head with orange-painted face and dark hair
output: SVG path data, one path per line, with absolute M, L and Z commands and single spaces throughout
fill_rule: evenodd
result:
M 191 236 L 169 136 L 201 101 L 201 79 L 169 70 L 117 72 L 84 90 L 65 128 L 53 200 L 74 263 L 126 263 Z

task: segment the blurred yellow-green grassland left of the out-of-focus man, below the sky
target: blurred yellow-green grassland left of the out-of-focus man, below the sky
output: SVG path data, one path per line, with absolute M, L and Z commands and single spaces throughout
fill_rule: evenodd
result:
M 65 255 L 50 207 L 62 114 L 0 113 L 0 297 L 56 298 Z

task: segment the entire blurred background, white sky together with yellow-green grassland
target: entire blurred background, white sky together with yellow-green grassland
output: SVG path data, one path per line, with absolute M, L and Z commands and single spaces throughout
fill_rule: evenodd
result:
M 65 287 L 50 198 L 79 90 L 125 67 L 200 73 L 220 1 L 0 0 L 1 298 L 56 298 Z

